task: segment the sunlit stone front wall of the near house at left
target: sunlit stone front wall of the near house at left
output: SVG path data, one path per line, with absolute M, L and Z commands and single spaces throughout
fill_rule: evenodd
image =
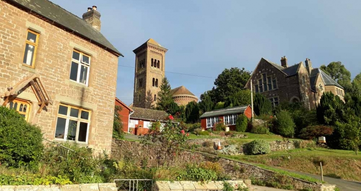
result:
M 53 104 L 37 113 L 38 100 L 32 88 L 25 86 L 17 98 L 31 104 L 28 121 L 38 124 L 45 138 L 54 140 L 59 103 L 85 108 L 91 111 L 91 123 L 84 145 L 100 152 L 110 150 L 118 58 L 7 1 L 0 4 L 0 12 L 0 94 L 38 74 Z M 22 64 L 28 29 L 39 33 L 34 68 Z M 91 56 L 88 86 L 69 78 L 74 49 Z M 4 101 L 0 99 L 0 105 Z

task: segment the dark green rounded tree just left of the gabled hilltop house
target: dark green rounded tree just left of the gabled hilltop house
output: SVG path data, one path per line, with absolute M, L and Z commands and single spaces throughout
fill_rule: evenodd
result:
M 251 72 L 246 71 L 245 68 L 226 68 L 216 78 L 214 83 L 216 88 L 212 89 L 212 93 L 209 96 L 215 103 L 225 101 L 227 96 L 245 89 L 250 77 Z

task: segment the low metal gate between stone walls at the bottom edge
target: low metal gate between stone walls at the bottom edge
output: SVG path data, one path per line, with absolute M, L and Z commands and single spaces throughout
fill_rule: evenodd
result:
M 153 191 L 152 179 L 114 179 L 114 183 L 122 191 Z

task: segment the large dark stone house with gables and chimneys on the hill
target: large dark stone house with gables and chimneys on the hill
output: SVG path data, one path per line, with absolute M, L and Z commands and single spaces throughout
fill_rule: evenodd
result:
M 319 68 L 312 68 L 310 59 L 288 66 L 287 58 L 281 65 L 261 58 L 246 88 L 266 96 L 273 105 L 281 102 L 300 102 L 308 109 L 316 108 L 324 92 L 332 92 L 344 100 L 344 89 Z

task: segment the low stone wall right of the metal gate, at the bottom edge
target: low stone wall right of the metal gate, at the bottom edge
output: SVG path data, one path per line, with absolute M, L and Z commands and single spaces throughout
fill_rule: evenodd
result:
M 234 188 L 252 188 L 251 180 L 227 180 Z M 193 182 L 193 181 L 157 181 L 153 191 L 191 191 L 191 190 L 222 190 L 223 181 Z

